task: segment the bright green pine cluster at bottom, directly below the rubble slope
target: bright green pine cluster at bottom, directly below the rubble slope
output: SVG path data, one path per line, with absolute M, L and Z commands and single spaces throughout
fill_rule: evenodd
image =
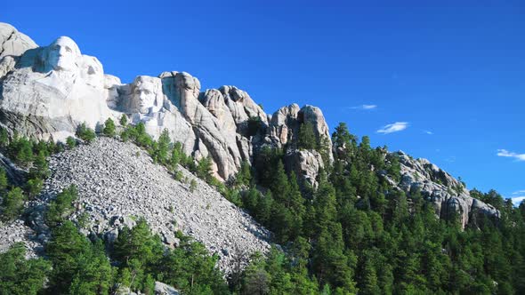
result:
M 121 263 L 119 283 L 132 290 L 151 291 L 155 280 L 161 279 L 190 294 L 228 293 L 222 273 L 215 268 L 218 257 L 210 256 L 201 243 L 179 237 L 179 247 L 166 251 L 144 219 L 132 229 L 125 227 L 113 251 L 114 259 Z

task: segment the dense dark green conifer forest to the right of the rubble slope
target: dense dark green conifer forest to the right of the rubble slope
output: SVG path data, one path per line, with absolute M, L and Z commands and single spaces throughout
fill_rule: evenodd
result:
M 301 281 L 316 286 L 311 293 L 525 290 L 525 202 L 514 208 L 495 191 L 473 190 L 473 197 L 493 204 L 503 216 L 494 222 L 473 215 L 473 226 L 462 230 L 453 221 L 436 219 L 432 203 L 424 201 L 419 190 L 405 194 L 384 180 L 386 172 L 400 181 L 399 159 L 386 147 L 371 148 L 367 137 L 359 142 L 345 124 L 337 126 L 332 141 L 335 163 L 328 176 L 320 174 L 313 193 L 308 187 L 296 188 L 295 176 L 287 175 L 278 149 L 263 147 L 255 157 L 255 184 L 268 193 L 253 186 L 242 194 L 246 210 L 271 228 L 277 242 L 287 245 L 287 259 L 312 275 Z M 300 147 L 311 148 L 312 143 L 302 141 Z M 290 291 L 290 276 L 267 267 L 272 259 L 255 257 L 238 290 L 309 293 Z M 274 281 L 279 282 L 276 289 Z

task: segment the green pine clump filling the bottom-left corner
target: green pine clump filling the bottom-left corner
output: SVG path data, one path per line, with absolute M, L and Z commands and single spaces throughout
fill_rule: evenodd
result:
M 44 289 L 51 264 L 44 259 L 26 259 L 23 243 L 0 254 L 0 294 L 36 295 Z

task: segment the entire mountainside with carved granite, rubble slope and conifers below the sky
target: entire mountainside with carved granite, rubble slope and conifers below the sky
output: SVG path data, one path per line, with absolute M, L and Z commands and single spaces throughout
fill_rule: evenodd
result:
M 268 115 L 185 72 L 123 84 L 69 37 L 0 34 L 0 290 L 525 292 L 525 203 L 310 105 Z

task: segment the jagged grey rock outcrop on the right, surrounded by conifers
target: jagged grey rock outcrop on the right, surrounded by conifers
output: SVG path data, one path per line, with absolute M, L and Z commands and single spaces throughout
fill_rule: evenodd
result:
M 400 161 L 401 180 L 389 179 L 407 194 L 417 190 L 424 199 L 432 202 L 436 216 L 441 219 L 458 217 L 462 227 L 480 215 L 499 219 L 500 212 L 494 206 L 472 198 L 464 184 L 448 172 L 426 159 L 413 159 L 402 151 L 392 153 Z

